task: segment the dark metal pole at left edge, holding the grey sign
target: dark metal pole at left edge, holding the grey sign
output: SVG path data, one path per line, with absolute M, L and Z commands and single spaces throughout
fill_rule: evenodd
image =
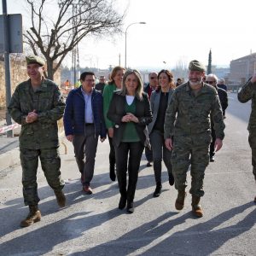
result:
M 10 58 L 9 58 L 9 23 L 7 15 L 6 0 L 2 0 L 3 5 L 3 52 L 4 52 L 4 68 L 5 68 L 5 101 L 6 101 L 6 124 L 11 125 L 12 119 L 8 113 L 8 106 L 11 100 L 11 84 L 10 84 Z M 14 131 L 7 131 L 7 137 L 14 137 Z

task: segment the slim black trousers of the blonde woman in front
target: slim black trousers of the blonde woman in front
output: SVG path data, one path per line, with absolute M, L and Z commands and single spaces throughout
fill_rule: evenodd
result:
M 144 146 L 141 142 L 137 143 L 120 143 L 115 148 L 116 173 L 119 183 L 119 192 L 127 198 L 127 201 L 133 201 L 137 186 L 137 177 L 140 162 L 143 155 Z M 129 155 L 129 159 L 128 159 Z M 126 181 L 128 164 L 128 187 Z

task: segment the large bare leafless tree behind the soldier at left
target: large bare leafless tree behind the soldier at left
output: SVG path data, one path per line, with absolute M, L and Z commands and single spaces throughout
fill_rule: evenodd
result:
M 31 11 L 32 27 L 24 34 L 34 55 L 47 61 L 47 77 L 55 71 L 67 53 L 88 36 L 112 36 L 121 32 L 124 14 L 114 9 L 114 0 L 26 0 Z M 47 13 L 49 5 L 55 15 Z M 55 63 L 55 65 L 54 65 Z

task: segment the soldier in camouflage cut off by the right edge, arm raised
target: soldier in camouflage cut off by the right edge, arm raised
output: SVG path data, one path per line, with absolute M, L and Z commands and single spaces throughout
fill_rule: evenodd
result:
M 238 100 L 241 103 L 252 100 L 252 112 L 247 129 L 249 131 L 248 141 L 252 148 L 253 175 L 256 181 L 256 73 L 242 86 L 241 91 L 238 93 Z M 254 202 L 256 202 L 256 196 Z

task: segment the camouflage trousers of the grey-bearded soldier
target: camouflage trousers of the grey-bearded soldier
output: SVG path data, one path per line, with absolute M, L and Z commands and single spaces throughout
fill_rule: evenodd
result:
M 172 173 L 175 189 L 184 190 L 187 186 L 187 172 L 190 168 L 191 195 L 203 196 L 203 180 L 209 164 L 209 144 L 211 135 L 203 134 L 195 137 L 174 137 L 172 150 Z

